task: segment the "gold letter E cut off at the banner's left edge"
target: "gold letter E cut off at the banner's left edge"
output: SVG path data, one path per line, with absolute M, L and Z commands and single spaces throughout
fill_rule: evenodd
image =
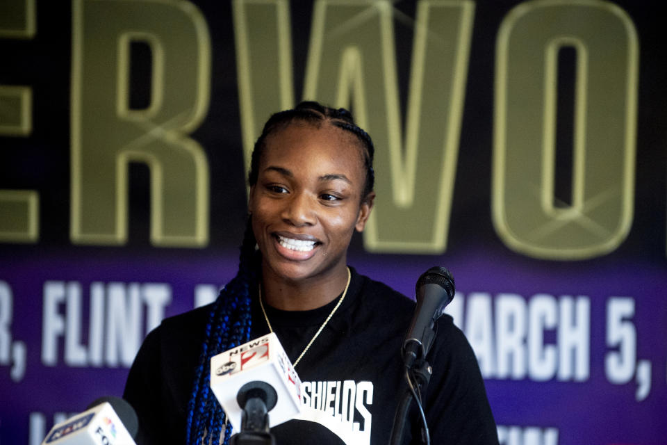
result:
M 2 1 L 0 38 L 32 39 L 35 16 L 35 0 Z M 32 102 L 32 88 L 0 85 L 0 137 L 26 137 L 32 132 Z M 39 198 L 33 190 L 0 189 L 0 243 L 38 241 Z

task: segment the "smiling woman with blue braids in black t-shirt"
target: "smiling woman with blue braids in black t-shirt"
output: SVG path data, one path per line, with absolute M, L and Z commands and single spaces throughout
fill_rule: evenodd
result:
M 373 206 L 373 151 L 343 108 L 272 115 L 252 154 L 238 275 L 212 305 L 163 321 L 130 371 L 139 443 L 227 443 L 210 357 L 268 332 L 303 382 L 304 414 L 272 428 L 277 444 L 388 443 L 414 302 L 347 266 Z M 450 317 L 438 331 L 423 394 L 431 442 L 497 444 L 475 355 Z M 412 419 L 406 443 L 419 434 Z

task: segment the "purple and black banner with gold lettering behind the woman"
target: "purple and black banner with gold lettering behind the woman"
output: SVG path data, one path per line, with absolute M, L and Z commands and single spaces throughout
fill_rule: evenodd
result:
M 349 264 L 408 296 L 429 267 L 452 271 L 447 312 L 475 349 L 501 444 L 667 443 L 654 8 L 1 3 L 0 443 L 40 444 L 121 396 L 147 332 L 236 274 L 244 149 L 301 91 L 349 93 L 371 127 L 401 127 L 369 129 L 377 230 L 353 238 Z M 393 40 L 375 32 L 388 23 Z M 387 161 L 396 149 L 405 170 Z

